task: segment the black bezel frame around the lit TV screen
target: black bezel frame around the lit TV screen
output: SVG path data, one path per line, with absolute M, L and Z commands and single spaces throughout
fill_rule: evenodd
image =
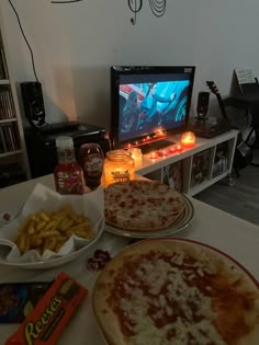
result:
M 111 66 L 110 68 L 110 88 L 111 88 L 111 123 L 110 123 L 110 140 L 112 149 L 127 148 L 128 143 L 135 146 L 134 142 L 138 141 L 136 146 L 144 146 L 143 139 L 145 136 L 135 137 L 119 141 L 119 125 L 120 125 L 120 78 L 122 76 L 154 76 L 154 74 L 177 74 L 188 73 L 190 76 L 190 88 L 188 92 L 187 116 L 184 124 L 177 128 L 167 129 L 166 137 L 184 131 L 188 128 L 190 108 L 192 101 L 192 91 L 194 84 L 195 66 Z M 153 135 L 153 134 L 150 134 Z M 165 137 L 161 139 L 165 139 Z M 159 140 L 159 139 L 158 139 Z M 150 140 L 151 143 L 158 140 Z

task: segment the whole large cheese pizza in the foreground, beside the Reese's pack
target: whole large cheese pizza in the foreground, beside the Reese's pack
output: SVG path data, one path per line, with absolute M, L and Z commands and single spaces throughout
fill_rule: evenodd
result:
M 110 345 L 258 345 L 258 284 L 245 268 L 181 239 L 125 248 L 93 292 Z

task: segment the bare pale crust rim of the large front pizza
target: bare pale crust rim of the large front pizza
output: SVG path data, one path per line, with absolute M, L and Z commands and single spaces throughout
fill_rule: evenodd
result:
M 113 289 L 114 278 L 122 271 L 125 262 L 135 260 L 142 254 L 150 251 L 160 253 L 183 252 L 187 255 L 207 264 L 210 272 L 227 276 L 230 284 L 236 284 L 239 294 L 251 294 L 254 299 L 259 301 L 258 286 L 249 279 L 241 271 L 233 268 L 232 264 L 223 261 L 219 256 L 205 248 L 195 246 L 193 243 L 166 240 L 146 240 L 130 245 L 122 250 L 106 266 L 99 276 L 93 292 L 93 310 L 101 330 L 111 345 L 135 344 L 130 342 L 121 331 L 119 317 L 112 310 L 109 299 Z M 244 338 L 229 345 L 258 345 L 259 344 L 259 308 L 246 313 L 246 322 L 254 330 Z M 224 343 L 223 343 L 224 344 Z M 225 343 L 226 344 L 226 343 Z M 146 344 L 145 344 L 146 345 Z M 228 345 L 228 344 L 227 344 Z

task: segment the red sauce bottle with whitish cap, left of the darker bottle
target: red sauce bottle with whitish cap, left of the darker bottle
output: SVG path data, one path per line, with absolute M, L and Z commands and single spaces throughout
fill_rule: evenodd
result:
M 75 158 L 71 137 L 56 139 L 58 164 L 54 170 L 56 191 L 60 194 L 83 194 L 83 174 Z

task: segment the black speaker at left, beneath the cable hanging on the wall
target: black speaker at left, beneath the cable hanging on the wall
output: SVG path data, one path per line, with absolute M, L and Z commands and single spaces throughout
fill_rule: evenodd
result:
M 29 123 L 36 127 L 43 125 L 45 123 L 45 108 L 42 84 L 38 81 L 22 82 L 21 92 Z

